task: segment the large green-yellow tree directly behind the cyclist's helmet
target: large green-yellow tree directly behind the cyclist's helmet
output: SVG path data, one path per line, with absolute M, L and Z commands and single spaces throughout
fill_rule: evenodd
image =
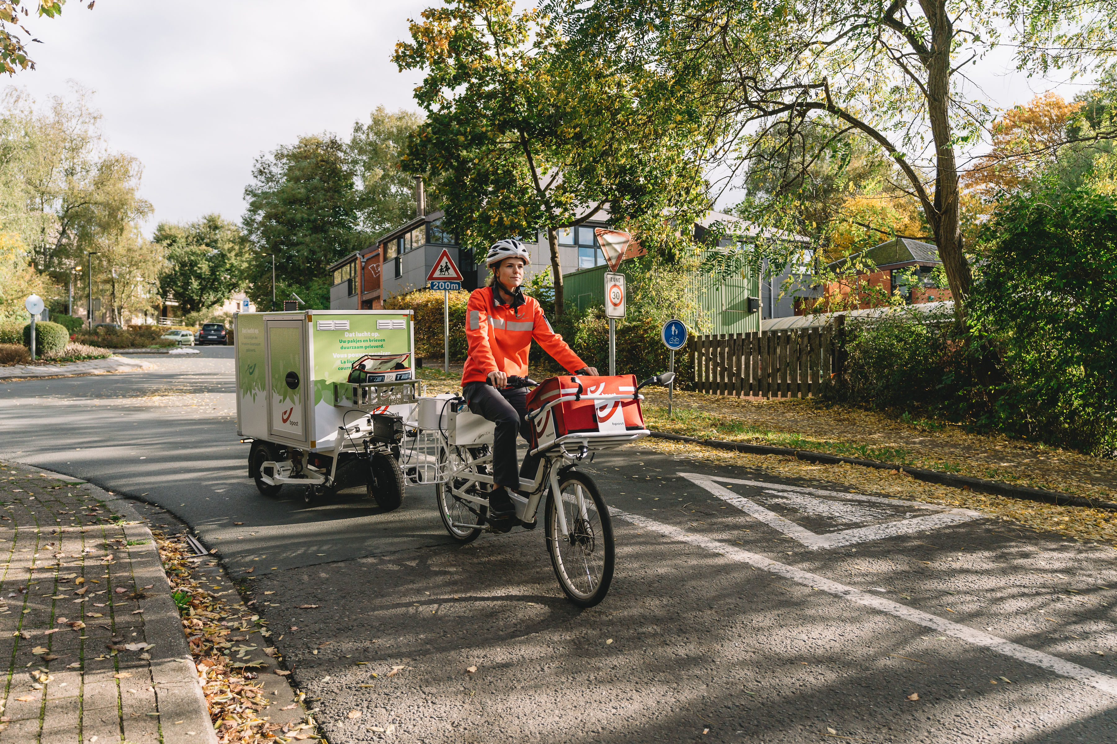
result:
M 651 247 L 671 232 L 668 211 L 685 224 L 708 209 L 700 123 L 671 78 L 572 51 L 550 17 L 512 0 L 430 8 L 410 33 L 393 59 L 427 71 L 416 89 L 427 122 L 404 167 L 441 178 L 448 228 L 468 248 L 542 229 L 555 315 L 560 230 L 608 218 Z

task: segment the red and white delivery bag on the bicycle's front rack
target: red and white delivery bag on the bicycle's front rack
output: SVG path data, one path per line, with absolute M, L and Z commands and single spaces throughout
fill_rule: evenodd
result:
M 543 380 L 527 396 L 527 409 L 538 410 L 558 398 L 582 396 L 580 400 L 563 400 L 532 419 L 533 448 L 546 446 L 569 434 L 617 433 L 643 429 L 643 412 L 634 399 L 636 375 L 588 377 L 562 375 Z M 624 395 L 626 400 L 592 400 L 585 396 Z

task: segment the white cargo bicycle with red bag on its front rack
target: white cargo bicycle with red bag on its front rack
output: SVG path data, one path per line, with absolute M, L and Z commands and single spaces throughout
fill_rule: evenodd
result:
M 508 387 L 536 389 L 528 397 L 532 455 L 541 455 L 534 480 L 521 479 L 509 491 L 519 524 L 534 530 L 541 503 L 547 552 L 558 584 L 580 607 L 593 607 L 609 592 L 615 563 L 609 506 L 593 479 L 576 470 L 594 453 L 636 442 L 643 426 L 639 390 L 668 385 L 672 373 L 637 385 L 636 377 L 564 375 L 538 384 L 509 377 Z M 494 425 L 469 413 L 458 396 L 423 400 L 401 464 L 412 482 L 433 482 L 439 515 L 447 532 L 468 543 L 488 530 L 488 493 Z M 437 407 L 431 412 L 432 407 Z M 545 502 L 544 502 L 545 497 Z

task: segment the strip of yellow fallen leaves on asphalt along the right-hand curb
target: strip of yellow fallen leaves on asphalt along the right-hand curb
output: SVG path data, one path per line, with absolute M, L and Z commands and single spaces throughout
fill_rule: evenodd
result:
M 1038 532 L 1054 532 L 1082 542 L 1105 542 L 1117 548 L 1117 515 L 1085 506 L 1056 506 L 1034 501 L 963 491 L 937 483 L 917 481 L 910 475 L 848 464 L 811 464 L 794 457 L 754 455 L 747 452 L 717 450 L 690 442 L 645 437 L 630 447 L 656 452 L 713 465 L 736 465 L 777 477 L 813 481 L 819 487 L 831 484 L 849 486 L 859 493 L 923 501 L 951 508 L 972 509 L 986 516 L 1016 522 Z M 1006 524 L 1006 529 L 1013 529 Z

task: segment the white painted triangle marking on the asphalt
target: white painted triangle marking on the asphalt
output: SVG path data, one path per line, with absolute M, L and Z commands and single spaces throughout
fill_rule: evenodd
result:
M 718 499 L 725 501 L 726 503 L 733 504 L 741 511 L 755 516 L 760 521 L 764 522 L 771 528 L 780 530 L 784 534 L 799 540 L 801 543 L 811 548 L 812 550 L 819 550 L 820 548 L 841 548 L 844 545 L 856 545 L 861 542 L 869 542 L 870 540 L 882 540 L 884 538 L 894 538 L 899 534 L 910 534 L 911 532 L 922 532 L 925 530 L 934 530 L 935 528 L 949 526 L 952 524 L 961 524 L 963 522 L 970 522 L 972 520 L 978 519 L 980 513 L 972 511 L 970 509 L 951 509 L 949 506 L 938 506 L 935 504 L 920 504 L 918 502 L 904 501 L 899 499 L 881 499 L 880 496 L 866 496 L 861 494 L 851 493 L 840 493 L 838 491 L 821 491 L 819 489 L 803 489 L 793 485 L 783 485 L 776 483 L 764 483 L 763 481 L 739 481 L 729 477 L 719 477 L 703 475 L 700 473 L 679 473 L 682 477 L 687 479 L 697 486 L 705 489 Z M 871 526 L 856 528 L 852 530 L 842 530 L 841 532 L 829 532 L 825 534 L 818 534 L 811 532 L 804 526 L 792 522 L 791 520 L 780 516 L 773 511 L 764 509 L 756 502 L 745 499 L 744 496 L 729 491 L 723 485 L 718 485 L 715 481 L 720 481 L 723 483 L 736 483 L 738 485 L 752 485 L 763 487 L 766 493 L 783 494 L 792 493 L 793 496 L 786 496 L 787 499 L 793 499 L 796 502 L 796 506 L 808 510 L 813 510 L 818 513 L 840 515 L 844 520 L 853 520 L 856 518 L 863 516 L 866 511 L 872 511 L 878 514 L 884 514 L 879 510 L 866 510 L 863 506 L 857 506 L 853 504 L 848 504 L 850 501 L 869 501 L 886 503 L 892 506 L 906 505 L 906 506 L 920 506 L 923 509 L 932 509 L 938 511 L 938 514 L 928 514 L 927 516 L 916 516 L 915 519 L 899 519 L 895 522 L 887 522 L 885 524 L 873 524 Z M 812 494 L 812 495 L 806 495 Z M 825 495 L 830 497 L 838 496 L 847 504 L 834 501 L 827 501 L 823 499 L 818 499 L 815 495 Z M 843 509 L 844 506 L 844 509 Z M 860 519 L 858 521 L 863 521 Z

